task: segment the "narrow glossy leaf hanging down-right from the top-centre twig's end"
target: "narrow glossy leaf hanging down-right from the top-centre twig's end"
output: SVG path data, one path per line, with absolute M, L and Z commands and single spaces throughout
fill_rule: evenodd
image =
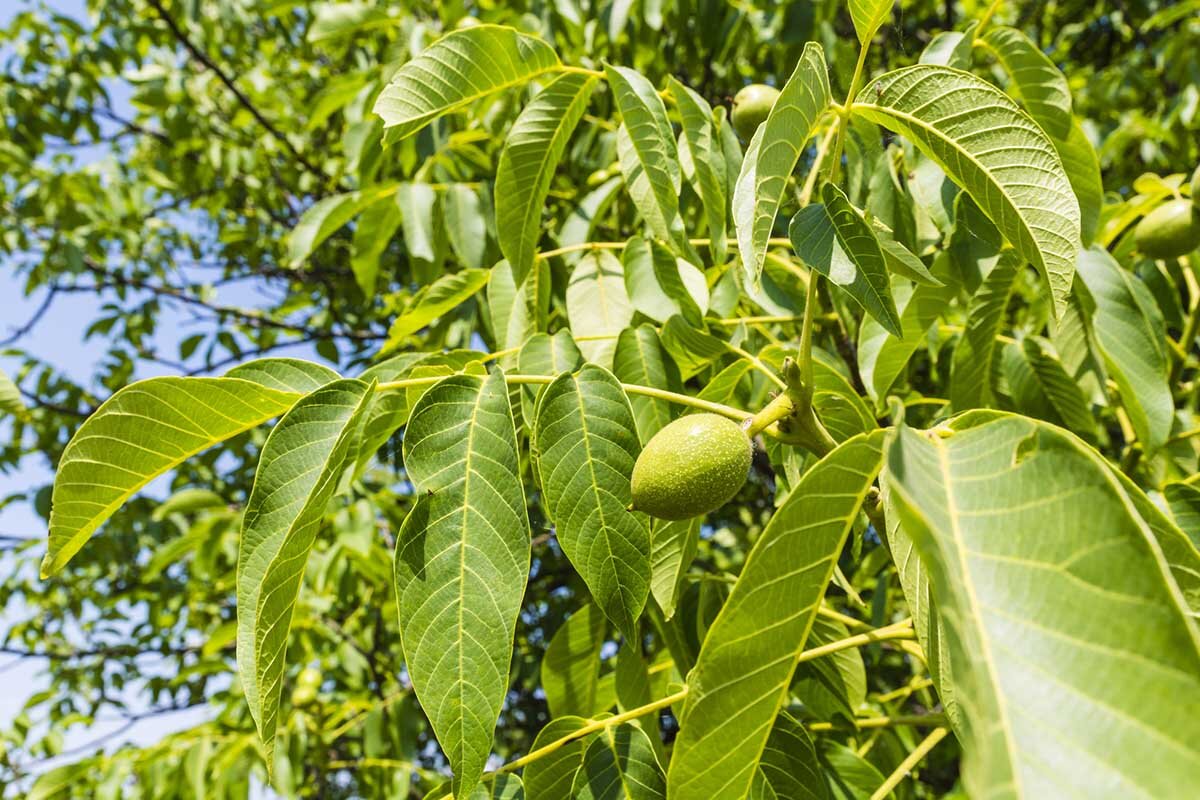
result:
M 679 218 L 683 179 L 662 98 L 635 70 L 605 64 L 605 76 L 620 110 L 624 133 L 617 137 L 617 152 L 629 196 L 654 235 L 686 253 Z

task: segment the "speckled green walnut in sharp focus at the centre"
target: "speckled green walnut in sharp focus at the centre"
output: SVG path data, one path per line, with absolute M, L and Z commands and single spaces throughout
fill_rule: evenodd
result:
M 690 414 L 654 434 L 634 464 L 635 511 L 690 519 L 728 503 L 750 471 L 750 438 L 716 414 Z

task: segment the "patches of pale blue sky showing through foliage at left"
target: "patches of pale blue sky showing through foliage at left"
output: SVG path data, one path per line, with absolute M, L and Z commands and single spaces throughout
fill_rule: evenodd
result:
M 88 19 L 84 0 L 52 0 L 49 5 L 61 13 L 70 14 L 79 20 Z M 26 0 L 18 2 L 0 4 L 0 25 L 7 25 L 11 18 L 28 8 L 32 4 Z M 0 50 L 0 58 L 4 52 Z M 126 96 L 124 92 L 113 91 L 113 104 L 119 112 L 127 110 Z M 122 108 L 124 107 L 124 108 Z M 132 115 L 132 113 L 131 113 Z M 94 160 L 104 155 L 103 152 L 82 152 L 83 161 Z M 119 266 L 119 265 L 114 265 Z M 25 296 L 24 277 L 18 275 L 12 263 L 0 259 L 0 338 L 6 338 L 14 329 L 23 325 L 46 297 L 44 290 L 35 291 Z M 103 338 L 85 341 L 86 326 L 96 318 L 101 305 L 104 302 L 103 294 L 66 294 L 55 299 L 46 317 L 40 321 L 31 335 L 23 337 L 14 347 L 20 348 L 38 359 L 54 365 L 68 374 L 74 380 L 97 390 L 97 395 L 103 396 L 94 383 L 96 365 L 106 351 Z M 222 287 L 216 302 L 232 306 L 252 307 L 257 305 L 258 297 L 252 284 L 236 283 Z M 168 309 L 160 320 L 158 347 L 163 354 L 176 353 L 178 342 L 197 329 L 191 321 L 191 317 L 181 309 Z M 313 357 L 311 348 L 298 347 L 286 351 L 287 355 L 298 357 Z M 16 377 L 19 359 L 0 354 L 0 369 Z M 161 374 L 164 372 L 152 365 L 139 367 L 138 378 Z M 0 421 L 0 437 L 7 437 L 7 423 Z M 53 477 L 49 464 L 38 457 L 28 457 L 20 468 L 10 474 L 0 474 L 0 497 L 6 497 L 16 492 L 30 492 L 47 485 Z M 158 482 L 161 493 L 161 482 Z M 146 491 L 155 493 L 156 485 L 151 485 Z M 46 523 L 37 516 L 30 504 L 16 503 L 5 509 L 0 509 L 0 534 L 43 539 L 46 536 Z M 103 535 L 103 530 L 98 535 Z M 0 609 L 2 610 L 2 609 Z M 0 628 L 7 627 L 6 620 L 0 616 Z M 0 692 L 0 726 L 7 727 L 13 716 L 20 711 L 25 699 L 32 693 L 44 688 L 43 673 L 44 662 L 26 660 L 22 662 L 8 661 L 0 656 L 0 676 L 5 681 L 6 691 Z M 149 744 L 166 733 L 196 724 L 205 716 L 205 710 L 198 709 L 164 717 L 154 717 L 138 723 L 127 735 L 119 741 L 136 741 Z M 116 727 L 97 726 L 90 729 L 78 729 L 70 732 L 66 736 L 67 747 L 78 747 L 103 735 Z M 115 744 L 115 742 L 114 742 Z M 53 764 L 47 764 L 50 766 Z

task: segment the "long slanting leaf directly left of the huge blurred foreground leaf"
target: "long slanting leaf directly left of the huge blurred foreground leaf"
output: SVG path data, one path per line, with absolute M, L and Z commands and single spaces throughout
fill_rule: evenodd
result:
M 839 445 L 755 542 L 688 675 L 671 798 L 737 798 L 750 788 L 882 443 L 875 432 Z

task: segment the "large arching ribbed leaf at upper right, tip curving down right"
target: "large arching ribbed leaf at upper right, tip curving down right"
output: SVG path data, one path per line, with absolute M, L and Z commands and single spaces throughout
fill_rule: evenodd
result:
M 854 113 L 911 139 L 1038 267 L 1057 317 L 1075 273 L 1080 212 L 1049 137 L 1002 91 L 948 67 L 896 70 L 858 97 Z

